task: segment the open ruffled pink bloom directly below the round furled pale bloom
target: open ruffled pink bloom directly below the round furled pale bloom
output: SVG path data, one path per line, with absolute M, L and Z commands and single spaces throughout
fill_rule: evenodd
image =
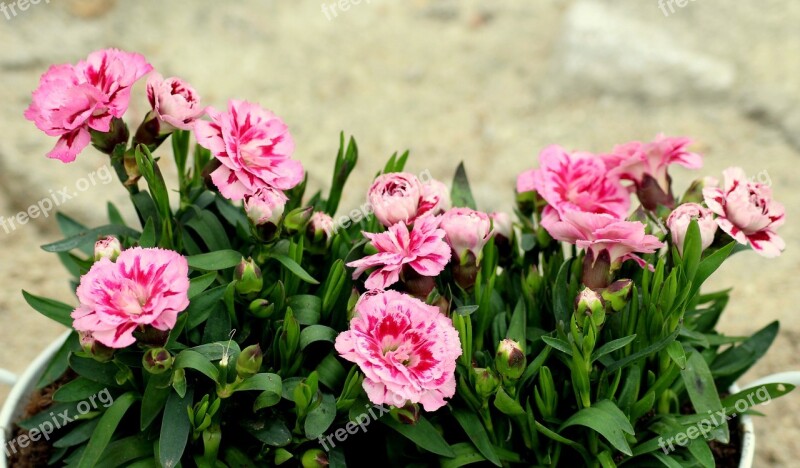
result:
M 353 279 L 371 267 L 379 267 L 367 278 L 368 289 L 386 289 L 400 279 L 405 265 L 422 276 L 437 276 L 450 261 L 450 246 L 439 228 L 440 217 L 428 216 L 414 223 L 409 231 L 405 223 L 397 223 L 386 232 L 365 232 L 378 253 L 347 264 L 354 267 Z

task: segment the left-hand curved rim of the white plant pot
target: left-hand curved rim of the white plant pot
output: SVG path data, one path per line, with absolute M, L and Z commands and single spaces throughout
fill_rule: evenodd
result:
M 0 409 L 0 434 L 3 439 L 3 448 L 0 449 L 0 468 L 8 468 L 8 460 L 4 449 L 14 422 L 22 415 L 29 396 L 36 388 L 36 383 L 39 381 L 42 372 L 44 372 L 47 363 L 58 352 L 70 333 L 70 331 L 65 332 L 53 341 L 18 378 L 15 378 L 10 372 L 0 369 L 0 384 L 13 384 L 11 393 L 9 393 L 3 404 L 3 408 Z

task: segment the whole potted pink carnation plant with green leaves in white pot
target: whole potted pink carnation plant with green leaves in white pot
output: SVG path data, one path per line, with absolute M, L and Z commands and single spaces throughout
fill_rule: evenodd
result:
M 777 256 L 783 208 L 740 169 L 676 198 L 668 167 L 702 162 L 688 139 L 548 147 L 516 220 L 477 211 L 463 165 L 448 189 L 395 153 L 336 217 L 352 138 L 306 196 L 279 117 L 204 108 L 139 54 L 52 67 L 25 116 L 59 137 L 52 158 L 106 154 L 138 220 L 58 215 L 65 238 L 43 248 L 78 305 L 24 293 L 72 331 L 4 408 L 12 463 L 746 465 L 740 422 L 797 380 L 734 386 L 778 324 L 724 336 L 728 291 L 701 286 L 741 250 Z M 167 140 L 178 203 L 154 156 Z

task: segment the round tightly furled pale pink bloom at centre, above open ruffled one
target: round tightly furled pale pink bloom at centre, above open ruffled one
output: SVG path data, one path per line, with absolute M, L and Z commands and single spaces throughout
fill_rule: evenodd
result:
M 410 223 L 417 217 L 422 183 L 414 174 L 391 172 L 379 175 L 367 192 L 375 217 L 386 227 Z

